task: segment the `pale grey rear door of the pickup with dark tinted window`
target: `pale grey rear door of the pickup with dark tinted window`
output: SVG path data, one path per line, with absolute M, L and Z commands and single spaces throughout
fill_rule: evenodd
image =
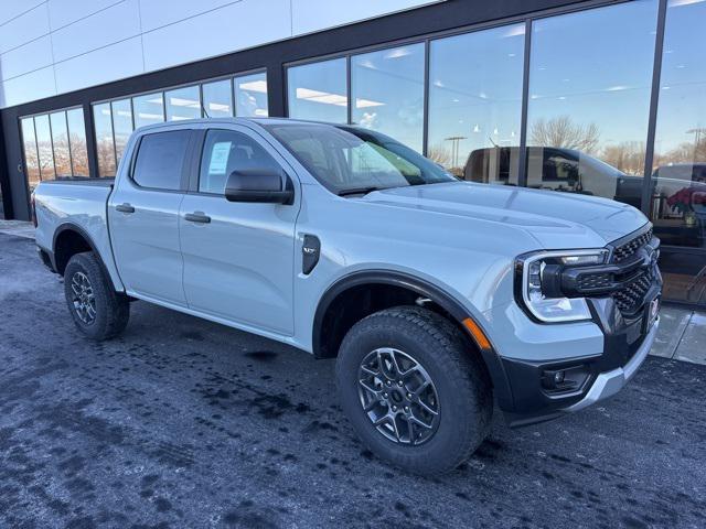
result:
M 185 305 L 179 209 L 188 186 L 193 131 L 148 132 L 108 204 L 118 272 L 128 293 Z

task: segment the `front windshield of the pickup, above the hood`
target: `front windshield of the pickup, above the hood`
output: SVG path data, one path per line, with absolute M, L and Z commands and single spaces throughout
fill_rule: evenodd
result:
M 322 123 L 278 123 L 267 129 L 333 193 L 367 193 L 457 180 L 378 132 Z

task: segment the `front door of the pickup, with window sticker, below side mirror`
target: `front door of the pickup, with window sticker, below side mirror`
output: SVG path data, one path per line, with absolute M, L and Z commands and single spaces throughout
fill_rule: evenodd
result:
M 235 170 L 288 168 L 261 138 L 244 127 L 211 129 L 199 181 L 181 205 L 184 292 L 190 309 L 278 334 L 293 334 L 293 205 L 232 203 L 227 176 Z M 292 177 L 291 170 L 287 170 Z

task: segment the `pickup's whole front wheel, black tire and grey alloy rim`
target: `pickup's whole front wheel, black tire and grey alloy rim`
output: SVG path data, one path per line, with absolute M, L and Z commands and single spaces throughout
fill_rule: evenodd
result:
M 336 360 L 341 406 L 363 443 L 403 469 L 436 475 L 466 461 L 489 433 L 484 366 L 451 322 L 422 307 L 372 314 Z

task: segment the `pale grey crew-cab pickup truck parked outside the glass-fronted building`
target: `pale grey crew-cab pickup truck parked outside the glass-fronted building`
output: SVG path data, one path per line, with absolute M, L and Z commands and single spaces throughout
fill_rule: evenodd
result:
M 462 182 L 349 126 L 139 129 L 115 181 L 46 182 L 36 244 L 95 339 L 143 300 L 336 357 L 382 458 L 449 471 L 511 424 L 616 393 L 656 332 L 659 240 L 617 202 Z

